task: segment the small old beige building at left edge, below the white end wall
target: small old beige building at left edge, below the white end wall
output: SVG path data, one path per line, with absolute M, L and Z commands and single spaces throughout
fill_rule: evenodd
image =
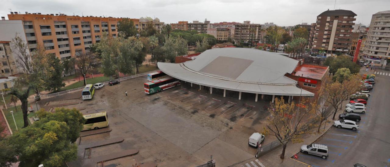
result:
M 12 50 L 10 42 L 11 41 L 0 41 L 0 76 L 10 76 L 18 73 L 15 59 L 11 55 Z

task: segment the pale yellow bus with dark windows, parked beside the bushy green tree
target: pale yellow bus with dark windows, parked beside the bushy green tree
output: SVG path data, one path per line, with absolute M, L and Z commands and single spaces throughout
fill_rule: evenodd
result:
M 107 112 L 98 112 L 95 114 L 83 115 L 83 117 L 87 120 L 84 123 L 83 130 L 90 130 L 90 129 L 96 130 L 108 126 Z

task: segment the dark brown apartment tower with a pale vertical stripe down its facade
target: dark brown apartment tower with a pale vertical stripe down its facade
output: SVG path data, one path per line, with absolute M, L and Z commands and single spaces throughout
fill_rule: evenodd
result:
M 328 10 L 317 16 L 312 50 L 326 53 L 347 53 L 352 43 L 351 34 L 356 14 L 348 10 Z

